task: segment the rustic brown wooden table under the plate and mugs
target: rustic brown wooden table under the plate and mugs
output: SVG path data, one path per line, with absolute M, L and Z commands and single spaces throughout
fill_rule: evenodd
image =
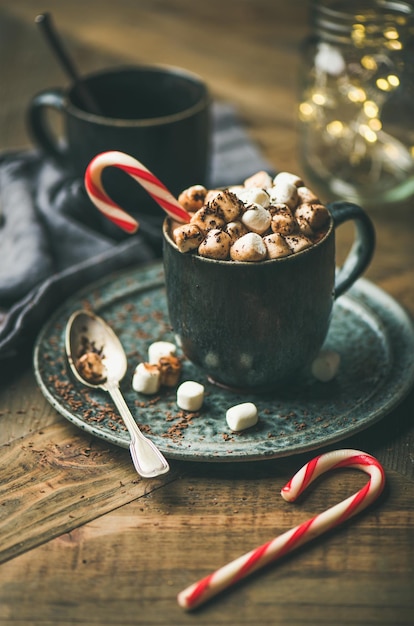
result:
M 300 172 L 295 127 L 305 3 L 283 0 L 0 1 L 0 148 L 30 145 L 24 113 L 63 84 L 33 20 L 50 10 L 83 71 L 121 62 L 182 65 L 237 105 L 276 168 Z M 371 211 L 366 275 L 414 315 L 413 201 Z M 341 229 L 338 252 L 350 243 Z M 413 355 L 414 358 L 414 355 Z M 126 450 L 93 438 L 39 391 L 31 354 L 0 362 L 0 623 L 414 623 L 414 395 L 339 445 L 384 465 L 387 487 L 354 521 L 195 613 L 177 593 L 359 488 L 331 473 L 296 505 L 278 492 L 312 453 L 257 463 L 171 462 L 142 480 Z

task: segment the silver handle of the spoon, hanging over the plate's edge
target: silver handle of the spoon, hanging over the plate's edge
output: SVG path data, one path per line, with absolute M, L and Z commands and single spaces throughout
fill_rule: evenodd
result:
M 118 409 L 131 436 L 129 449 L 135 469 L 144 478 L 153 478 L 169 471 L 170 466 L 158 448 L 145 437 L 125 402 L 117 384 L 107 384 L 106 390 Z

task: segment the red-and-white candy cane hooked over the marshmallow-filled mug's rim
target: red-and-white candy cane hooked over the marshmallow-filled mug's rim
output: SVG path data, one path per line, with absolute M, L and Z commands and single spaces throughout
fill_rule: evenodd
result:
M 107 167 L 117 167 L 136 180 L 164 211 L 178 222 L 189 222 L 190 216 L 174 198 L 167 187 L 134 157 L 124 152 L 110 151 L 98 154 L 85 172 L 86 191 L 94 205 L 117 226 L 134 233 L 139 223 L 112 200 L 102 184 L 102 172 Z

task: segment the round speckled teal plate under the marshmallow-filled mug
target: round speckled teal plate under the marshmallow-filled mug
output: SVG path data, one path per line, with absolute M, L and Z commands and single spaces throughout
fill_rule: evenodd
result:
M 341 355 L 338 376 L 329 383 L 310 375 L 271 395 L 237 394 L 210 384 L 188 361 L 182 380 L 205 385 L 202 409 L 187 415 L 176 405 L 175 389 L 156 397 L 131 386 L 138 362 L 160 339 L 174 341 L 166 311 L 160 264 L 128 269 L 75 294 L 40 333 L 34 352 L 38 384 L 48 401 L 79 428 L 127 448 L 128 433 L 105 392 L 74 382 L 64 353 L 70 314 L 90 308 L 118 334 L 129 368 L 122 391 L 137 422 L 170 458 L 246 461 L 276 458 L 335 443 L 384 417 L 408 393 L 414 380 L 414 331 L 401 307 L 365 279 L 338 299 L 326 347 Z M 253 401 L 254 428 L 232 433 L 226 410 Z

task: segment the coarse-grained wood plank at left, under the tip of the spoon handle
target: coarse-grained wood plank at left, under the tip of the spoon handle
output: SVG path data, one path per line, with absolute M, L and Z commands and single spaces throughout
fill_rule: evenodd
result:
M 142 479 L 128 450 L 63 422 L 0 448 L 0 562 L 177 477 Z

